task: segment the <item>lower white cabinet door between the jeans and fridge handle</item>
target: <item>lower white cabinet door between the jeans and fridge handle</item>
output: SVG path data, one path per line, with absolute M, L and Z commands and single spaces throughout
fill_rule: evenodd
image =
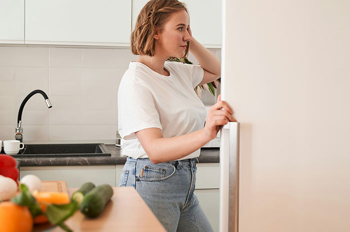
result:
M 206 218 L 214 230 L 219 231 L 219 190 L 218 189 L 196 189 L 194 195 L 199 200 Z

